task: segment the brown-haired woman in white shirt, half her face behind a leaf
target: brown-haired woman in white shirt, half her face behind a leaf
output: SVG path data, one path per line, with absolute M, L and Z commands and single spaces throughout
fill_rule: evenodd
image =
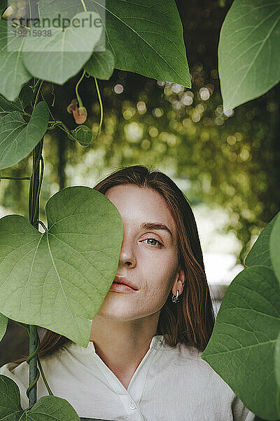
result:
M 197 226 L 163 173 L 130 166 L 94 187 L 123 218 L 116 278 L 92 321 L 87 349 L 47 330 L 38 356 L 50 389 L 80 417 L 251 421 L 254 415 L 200 358 L 214 326 Z M 108 239 L 110 241 L 110 239 Z M 28 366 L 0 370 L 28 406 Z M 38 399 L 48 394 L 40 377 Z

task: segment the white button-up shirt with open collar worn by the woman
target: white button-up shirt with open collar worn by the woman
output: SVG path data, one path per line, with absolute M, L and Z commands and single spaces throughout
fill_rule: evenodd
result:
M 221 377 L 200 358 L 201 352 L 178 344 L 170 347 L 155 335 L 127 389 L 96 354 L 93 342 L 83 348 L 73 342 L 41 358 L 50 389 L 66 399 L 80 417 L 127 421 L 252 421 L 254 415 Z M 27 408 L 29 366 L 11 363 L 0 374 L 20 387 Z M 38 399 L 48 395 L 43 379 Z

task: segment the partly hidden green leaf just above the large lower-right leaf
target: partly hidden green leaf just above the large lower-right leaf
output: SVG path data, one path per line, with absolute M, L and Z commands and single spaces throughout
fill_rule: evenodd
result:
M 269 222 L 269 224 L 267 224 L 264 229 L 262 229 L 260 236 L 258 236 L 257 241 L 255 241 L 253 247 L 246 257 L 246 266 L 262 265 L 272 269 L 272 262 L 269 255 L 269 237 L 272 232 L 274 222 L 276 221 L 276 216 Z

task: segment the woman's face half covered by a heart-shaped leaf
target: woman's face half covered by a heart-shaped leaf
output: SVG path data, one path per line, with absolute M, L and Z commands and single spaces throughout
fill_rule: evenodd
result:
M 119 185 L 107 190 L 106 196 L 123 218 L 117 275 L 125 276 L 137 289 L 113 283 L 98 316 L 131 321 L 159 313 L 171 289 L 174 294 L 177 289 L 180 294 L 183 291 L 184 274 L 178 268 L 172 214 L 163 197 L 151 188 Z

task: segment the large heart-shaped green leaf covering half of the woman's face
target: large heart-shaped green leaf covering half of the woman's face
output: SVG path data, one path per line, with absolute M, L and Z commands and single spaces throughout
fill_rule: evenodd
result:
M 87 347 L 92 319 L 115 277 L 123 220 L 90 187 L 68 187 L 46 205 L 48 231 L 0 220 L 0 312 Z

